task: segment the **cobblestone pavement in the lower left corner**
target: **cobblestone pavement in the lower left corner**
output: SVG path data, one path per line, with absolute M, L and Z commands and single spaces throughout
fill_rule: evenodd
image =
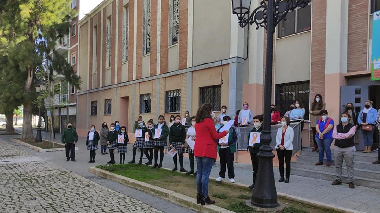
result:
M 162 212 L 0 139 L 0 212 Z

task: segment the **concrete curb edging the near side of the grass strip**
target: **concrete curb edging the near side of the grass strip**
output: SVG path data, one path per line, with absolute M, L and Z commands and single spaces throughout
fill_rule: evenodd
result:
M 200 205 L 196 203 L 196 199 L 176 193 L 175 191 L 167 190 L 158 186 L 150 185 L 135 179 L 124 177 L 122 175 L 114 174 L 103 169 L 96 167 L 90 167 L 89 172 L 104 177 L 106 179 L 112 180 L 117 183 L 121 183 L 137 190 L 152 194 L 157 197 L 161 197 L 165 200 L 173 202 L 175 204 L 181 205 L 186 208 L 190 208 L 199 212 L 207 213 L 233 213 L 233 211 L 226 210 L 225 208 L 218 207 L 216 205 Z

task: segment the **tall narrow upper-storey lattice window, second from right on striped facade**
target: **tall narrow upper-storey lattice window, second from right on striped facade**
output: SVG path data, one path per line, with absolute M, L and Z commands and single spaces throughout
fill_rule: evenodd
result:
M 144 0 L 142 55 L 150 53 L 150 0 Z

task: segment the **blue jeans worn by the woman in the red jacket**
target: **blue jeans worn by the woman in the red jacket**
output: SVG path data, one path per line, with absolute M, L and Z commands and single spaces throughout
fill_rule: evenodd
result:
M 196 157 L 196 188 L 198 189 L 198 194 L 203 194 L 203 196 L 209 196 L 209 177 L 212 169 L 212 164 L 214 164 L 214 158 L 208 157 Z

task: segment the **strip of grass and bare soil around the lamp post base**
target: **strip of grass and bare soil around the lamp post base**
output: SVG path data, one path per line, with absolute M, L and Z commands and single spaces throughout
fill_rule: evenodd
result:
M 175 191 L 189 197 L 196 197 L 196 178 L 193 175 L 185 175 L 180 172 L 172 172 L 166 169 L 152 169 L 150 166 L 138 164 L 100 165 L 97 168 L 149 183 L 161 188 Z M 223 192 L 223 194 L 221 193 Z M 250 200 L 252 190 L 248 187 L 231 185 L 225 182 L 210 180 L 209 194 L 215 200 L 215 205 L 234 212 L 256 212 L 253 208 L 245 205 L 245 200 Z M 287 205 L 283 213 L 337 213 L 293 200 L 278 197 L 278 201 Z

